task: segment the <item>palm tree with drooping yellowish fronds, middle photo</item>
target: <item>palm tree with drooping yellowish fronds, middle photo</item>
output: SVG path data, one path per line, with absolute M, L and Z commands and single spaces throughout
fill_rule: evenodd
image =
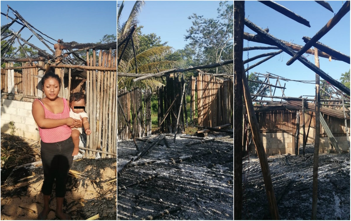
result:
M 177 62 L 166 61 L 164 58 L 167 54 L 172 53 L 173 48 L 170 46 L 159 46 L 150 48 L 144 52 L 135 55 L 134 58 L 134 47 L 138 47 L 139 39 L 136 32 L 133 32 L 138 24 L 137 16 L 144 5 L 144 1 L 136 1 L 132 11 L 126 22 L 120 24 L 120 15 L 124 6 L 124 2 L 119 6 L 118 17 L 117 17 L 117 44 L 118 44 L 118 59 L 120 62 L 117 66 L 118 72 L 124 73 L 138 73 L 138 74 L 150 74 L 158 73 L 170 69 L 176 65 Z M 126 45 L 126 38 L 133 32 L 131 40 Z M 132 43 L 131 43 L 132 42 Z M 125 47 L 125 49 L 124 49 Z M 123 51 L 124 49 L 124 51 Z M 123 52 L 123 54 L 122 54 Z M 136 61 L 135 61 L 136 60 Z M 136 62 L 136 66 L 135 66 Z M 131 77 L 118 77 L 117 85 L 119 88 L 151 88 L 153 91 L 160 86 L 163 86 L 160 79 L 148 78 L 145 80 L 133 82 L 134 78 Z

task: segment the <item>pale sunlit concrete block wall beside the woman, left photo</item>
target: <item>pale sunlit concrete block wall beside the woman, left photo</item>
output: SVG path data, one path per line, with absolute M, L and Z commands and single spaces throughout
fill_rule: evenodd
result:
M 32 116 L 32 102 L 3 99 L 1 106 L 1 133 L 11 133 L 9 128 L 9 122 L 11 121 L 18 128 L 14 135 L 32 140 L 40 139 L 37 124 Z

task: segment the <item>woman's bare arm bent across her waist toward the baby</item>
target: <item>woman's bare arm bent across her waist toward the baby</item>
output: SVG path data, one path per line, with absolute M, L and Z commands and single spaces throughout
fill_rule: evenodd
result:
M 55 128 L 62 125 L 67 125 L 70 127 L 74 122 L 73 118 L 65 118 L 65 119 L 45 118 L 45 111 L 39 100 L 33 101 L 32 115 L 37 125 L 43 129 Z

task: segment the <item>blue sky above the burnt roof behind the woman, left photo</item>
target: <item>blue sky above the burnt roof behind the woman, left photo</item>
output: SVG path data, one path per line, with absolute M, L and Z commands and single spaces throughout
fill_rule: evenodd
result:
M 117 36 L 116 1 L 1 1 L 2 13 L 7 13 L 7 5 L 16 10 L 29 24 L 53 39 L 96 43 L 105 34 Z M 11 9 L 8 15 L 15 18 Z M 1 26 L 11 22 L 11 19 L 7 20 L 4 15 L 0 18 Z M 17 23 L 11 27 L 14 32 L 21 28 Z M 25 28 L 20 34 L 27 40 L 32 32 Z M 37 37 L 33 36 L 29 42 L 49 52 Z

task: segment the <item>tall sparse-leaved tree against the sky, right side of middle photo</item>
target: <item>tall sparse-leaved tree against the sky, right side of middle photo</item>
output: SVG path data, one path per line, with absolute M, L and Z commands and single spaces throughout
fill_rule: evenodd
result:
M 203 16 L 193 14 L 192 26 L 186 30 L 185 40 L 190 43 L 186 48 L 194 49 L 194 60 L 199 65 L 218 63 L 233 54 L 233 4 L 220 1 L 217 8 L 217 19 L 205 19 Z M 216 73 L 223 69 L 216 68 Z

